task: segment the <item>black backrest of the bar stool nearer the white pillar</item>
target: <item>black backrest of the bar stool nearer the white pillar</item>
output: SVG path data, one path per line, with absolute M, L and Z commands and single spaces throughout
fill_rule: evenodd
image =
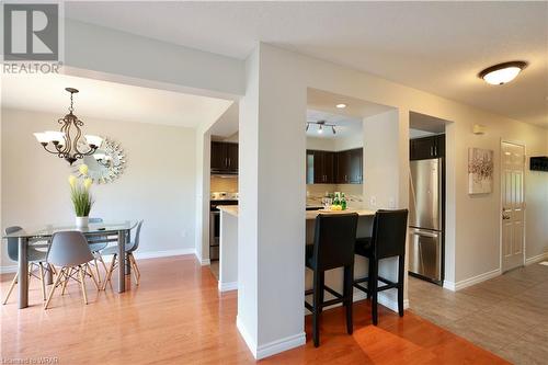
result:
M 313 260 L 317 270 L 354 263 L 357 218 L 356 213 L 319 214 L 316 217 Z

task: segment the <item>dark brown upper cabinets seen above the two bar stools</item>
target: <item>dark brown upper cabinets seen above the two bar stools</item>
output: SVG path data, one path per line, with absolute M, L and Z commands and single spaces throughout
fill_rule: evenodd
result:
M 307 184 L 361 184 L 363 149 L 307 150 Z

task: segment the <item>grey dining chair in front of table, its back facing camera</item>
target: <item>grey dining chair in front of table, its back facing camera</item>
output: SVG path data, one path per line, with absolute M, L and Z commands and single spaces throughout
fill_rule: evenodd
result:
M 52 247 L 47 254 L 47 262 L 60 266 L 60 271 L 55 280 L 52 290 L 47 296 L 44 309 L 47 309 L 54 292 L 58 286 L 62 286 L 61 295 L 65 294 L 69 280 L 80 283 L 83 295 L 83 303 L 88 304 L 88 294 L 85 293 L 85 277 L 90 276 L 99 290 L 99 284 L 89 266 L 93 260 L 93 254 L 88 247 L 88 240 L 80 231 L 61 231 L 52 237 Z M 78 275 L 78 277 L 76 276 Z

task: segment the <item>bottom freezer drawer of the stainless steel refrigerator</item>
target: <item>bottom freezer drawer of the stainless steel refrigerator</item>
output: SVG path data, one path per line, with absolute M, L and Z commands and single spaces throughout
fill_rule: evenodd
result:
M 442 232 L 410 228 L 409 271 L 432 281 L 442 280 Z

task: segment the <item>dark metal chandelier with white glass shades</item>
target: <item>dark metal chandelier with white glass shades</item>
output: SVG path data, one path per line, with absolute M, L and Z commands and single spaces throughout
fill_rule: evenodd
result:
M 57 155 L 72 164 L 76 160 L 82 159 L 84 156 L 93 155 L 103 142 L 103 138 L 87 135 L 81 140 L 82 130 L 80 127 L 83 126 L 83 122 L 72 114 L 75 111 L 72 95 L 78 90 L 73 88 L 66 88 L 65 90 L 70 93 L 70 107 L 69 113 L 57 121 L 62 125 L 60 132 L 46 130 L 35 133 L 34 136 L 46 151 Z M 83 148 L 83 150 L 80 150 L 80 148 Z

